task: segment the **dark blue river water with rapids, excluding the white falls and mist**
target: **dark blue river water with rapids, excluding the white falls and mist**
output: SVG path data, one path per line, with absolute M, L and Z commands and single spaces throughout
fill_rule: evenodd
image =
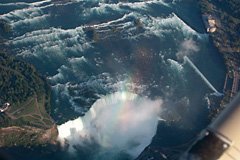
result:
M 221 92 L 225 67 L 205 34 L 196 1 L 39 2 L 1 1 L 0 18 L 13 29 L 2 36 L 16 56 L 47 77 L 58 124 L 84 115 L 102 95 L 125 90 L 164 100 L 166 121 L 159 123 L 152 146 L 166 154 L 209 123 L 206 97 L 213 91 L 177 56 L 187 55 Z M 84 160 L 94 154 L 86 149 L 72 157 L 21 147 L 7 152 L 19 160 Z

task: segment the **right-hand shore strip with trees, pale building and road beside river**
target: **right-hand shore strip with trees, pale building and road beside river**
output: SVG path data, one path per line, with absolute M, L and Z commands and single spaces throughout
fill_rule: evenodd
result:
M 240 58 L 240 47 L 235 46 L 236 42 L 231 39 L 231 36 L 234 36 L 234 33 L 231 32 L 231 28 L 236 24 L 235 22 L 232 22 L 231 24 L 228 23 L 231 19 L 234 19 L 237 23 L 237 19 L 230 14 L 226 14 L 224 8 L 219 8 L 213 2 L 201 0 L 198 4 L 206 32 L 209 34 L 209 38 L 213 45 L 223 57 L 227 70 L 223 86 L 224 97 L 222 98 L 218 109 L 215 110 L 216 113 L 214 113 L 214 116 L 216 116 L 239 91 L 240 72 L 238 68 L 240 67 L 240 61 L 238 61 L 238 58 Z M 226 18 L 225 20 L 223 20 L 223 14 L 226 14 L 224 17 Z M 215 24 L 210 24 L 209 21 L 205 19 L 205 16 L 211 17 Z M 216 30 L 212 30 L 211 32 L 208 28 L 209 26 L 215 27 Z M 235 36 L 237 37 L 237 33 Z

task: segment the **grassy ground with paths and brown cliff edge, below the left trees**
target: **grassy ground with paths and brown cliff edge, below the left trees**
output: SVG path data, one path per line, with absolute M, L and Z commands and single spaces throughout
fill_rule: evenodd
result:
M 0 127 L 0 147 L 56 143 L 58 132 L 45 109 L 45 97 L 29 97 L 5 113 L 6 123 Z

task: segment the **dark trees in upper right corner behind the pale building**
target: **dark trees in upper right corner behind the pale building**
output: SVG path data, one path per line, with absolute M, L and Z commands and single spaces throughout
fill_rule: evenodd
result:
M 217 31 L 211 34 L 215 46 L 224 58 L 237 60 L 240 53 L 240 1 L 239 0 L 201 0 L 199 1 L 203 14 L 215 17 Z M 227 63 L 231 70 L 234 66 Z

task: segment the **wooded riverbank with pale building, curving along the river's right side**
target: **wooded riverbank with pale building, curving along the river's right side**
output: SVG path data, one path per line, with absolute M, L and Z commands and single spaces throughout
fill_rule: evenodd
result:
M 209 32 L 209 36 L 222 54 L 227 68 L 225 84 L 223 86 L 224 97 L 220 108 L 215 112 L 218 114 L 239 91 L 240 80 L 240 10 L 237 0 L 223 1 L 199 1 L 199 6 L 205 21 L 206 31 L 209 26 L 204 17 L 210 17 L 214 21 L 216 30 Z

